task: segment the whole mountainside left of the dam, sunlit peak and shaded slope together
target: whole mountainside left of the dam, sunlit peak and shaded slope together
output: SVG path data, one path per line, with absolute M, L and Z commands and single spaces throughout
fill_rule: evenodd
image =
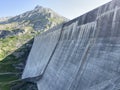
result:
M 41 6 L 14 17 L 0 18 L 0 90 L 10 90 L 12 84 L 21 83 L 34 37 L 66 21 L 65 17 Z M 21 90 L 32 88 L 33 84 L 26 84 L 27 89 L 25 86 Z M 33 85 L 31 90 L 34 88 Z

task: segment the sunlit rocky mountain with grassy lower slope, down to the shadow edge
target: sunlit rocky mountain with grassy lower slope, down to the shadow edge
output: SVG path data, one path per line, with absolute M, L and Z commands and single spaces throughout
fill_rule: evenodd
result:
M 17 49 L 26 41 L 29 41 L 35 35 L 49 30 L 50 28 L 67 21 L 63 16 L 58 15 L 54 11 L 49 8 L 44 8 L 42 6 L 36 6 L 33 10 L 27 11 L 23 14 L 14 16 L 14 17 L 6 17 L 0 19 L 0 53 L 3 54 L 3 51 L 9 54 L 11 52 L 11 47 L 14 48 L 12 51 Z M 15 39 L 17 38 L 17 40 Z M 20 39 L 21 38 L 21 42 Z M 6 39 L 14 40 L 11 44 L 6 44 Z M 23 40 L 22 40 L 23 39 Z M 13 41 L 12 40 L 12 41 Z M 20 43 L 18 44 L 17 41 Z M 10 42 L 9 42 L 10 43 Z M 16 45 L 16 46 L 15 46 Z M 6 47 L 9 46 L 9 49 L 6 50 Z M 13 47 L 14 46 L 14 47 Z M 5 47 L 3 50 L 3 47 Z M 17 48 L 15 48 L 17 47 Z M 3 55 L 0 54 L 0 59 Z M 4 57 L 6 54 L 4 54 Z

